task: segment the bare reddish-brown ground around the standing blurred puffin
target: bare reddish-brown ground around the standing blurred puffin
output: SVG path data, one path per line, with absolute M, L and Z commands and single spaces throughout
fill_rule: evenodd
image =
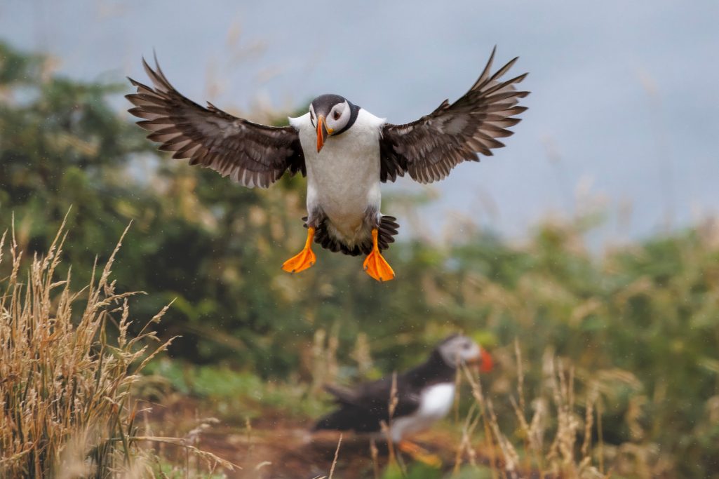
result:
M 188 398 L 175 398 L 165 406 L 152 406 L 147 421 L 157 435 L 182 437 L 194 429 L 198 419 L 198 404 Z M 242 469 L 225 470 L 228 478 L 242 479 L 311 479 L 329 475 L 340 433 L 310 432 L 311 422 L 288 421 L 275 411 L 267 411 L 262 419 L 247 426 L 214 424 L 198 434 L 196 444 Z M 441 459 L 443 470 L 452 470 L 456 461 L 459 438 L 456 434 L 435 429 L 413 437 L 429 452 Z M 381 438 L 375 441 L 377 458 L 372 460 L 372 438 L 365 434 L 342 434 L 342 445 L 335 468 L 335 477 L 343 479 L 375 478 L 375 469 L 384 470 L 388 463 L 388 447 Z M 180 451 L 165 447 L 163 455 L 173 456 Z M 400 460 L 412 458 L 400 453 Z M 462 458 L 464 462 L 467 458 Z M 477 453 L 477 462 L 489 463 L 487 455 Z M 439 475 L 438 475 L 439 476 Z

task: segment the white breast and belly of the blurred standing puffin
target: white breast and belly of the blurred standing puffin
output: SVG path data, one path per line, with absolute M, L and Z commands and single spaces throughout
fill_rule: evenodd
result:
M 429 386 L 422 391 L 417 411 L 409 416 L 392 420 L 390 434 L 394 442 L 408 434 L 421 432 L 442 419 L 452 409 L 454 402 L 454 384 L 440 383 Z

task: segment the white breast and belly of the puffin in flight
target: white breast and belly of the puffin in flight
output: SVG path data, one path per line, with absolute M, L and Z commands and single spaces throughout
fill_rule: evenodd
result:
M 329 136 L 317 152 L 317 131 L 309 114 L 290 118 L 298 129 L 307 166 L 307 209 L 319 206 L 341 239 L 361 240 L 365 214 L 380 209 L 380 127 L 385 120 L 363 109 L 346 132 Z

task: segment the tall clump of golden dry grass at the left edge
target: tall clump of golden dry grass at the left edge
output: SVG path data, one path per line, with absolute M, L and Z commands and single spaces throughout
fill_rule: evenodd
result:
M 9 272 L 0 278 L 0 476 L 147 477 L 159 467 L 147 447 L 156 442 L 180 445 L 210 470 L 232 468 L 187 438 L 140 434 L 132 388 L 170 343 L 149 328 L 167 306 L 129 334 L 135 293 L 117 293 L 110 280 L 120 244 L 99 279 L 74 292 L 69 272 L 56 278 L 65 237 L 63 223 L 47 254 L 29 261 L 27 277 L 14 232 L 9 264 L 2 264 L 8 234 L 0 239 L 0 267 Z

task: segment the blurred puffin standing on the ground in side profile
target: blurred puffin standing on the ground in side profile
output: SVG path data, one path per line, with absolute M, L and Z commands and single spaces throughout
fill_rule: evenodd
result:
M 476 365 L 482 372 L 492 370 L 492 357 L 472 339 L 453 334 L 437 345 L 429 359 L 394 379 L 397 404 L 389 417 L 393 378 L 363 383 L 352 389 L 326 386 L 339 409 L 314 426 L 319 429 L 380 432 L 380 422 L 390 429 L 390 439 L 403 450 L 413 447 L 404 440 L 409 434 L 428 429 L 452 408 L 457 365 Z

